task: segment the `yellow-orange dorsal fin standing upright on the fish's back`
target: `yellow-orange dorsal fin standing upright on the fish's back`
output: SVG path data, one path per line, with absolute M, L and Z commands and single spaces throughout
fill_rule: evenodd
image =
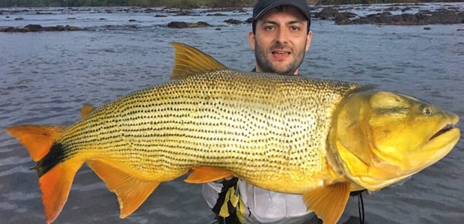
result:
M 201 50 L 184 43 L 171 42 L 171 45 L 174 47 L 175 54 L 174 67 L 169 79 L 184 79 L 200 72 L 226 68 Z

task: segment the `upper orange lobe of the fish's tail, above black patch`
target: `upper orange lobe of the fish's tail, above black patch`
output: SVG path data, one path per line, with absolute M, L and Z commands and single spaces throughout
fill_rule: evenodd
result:
M 59 138 L 64 129 L 64 126 L 17 125 L 6 128 L 5 131 L 19 139 L 32 160 L 37 162 L 50 152 L 53 141 Z

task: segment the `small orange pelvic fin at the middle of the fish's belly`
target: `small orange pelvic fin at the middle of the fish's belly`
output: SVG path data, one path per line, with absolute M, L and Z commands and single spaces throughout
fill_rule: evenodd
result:
M 216 167 L 193 167 L 190 174 L 184 181 L 187 183 L 208 183 L 232 176 L 229 170 Z

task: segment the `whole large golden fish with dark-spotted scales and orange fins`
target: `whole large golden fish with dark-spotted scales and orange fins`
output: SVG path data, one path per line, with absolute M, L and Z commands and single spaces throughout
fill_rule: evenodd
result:
M 233 175 L 266 190 L 302 194 L 325 224 L 350 191 L 379 190 L 443 158 L 458 116 L 369 86 L 230 70 L 181 43 L 171 81 L 116 99 L 70 127 L 18 125 L 37 165 L 45 217 L 61 212 L 87 163 L 118 196 L 120 217 L 163 181 Z

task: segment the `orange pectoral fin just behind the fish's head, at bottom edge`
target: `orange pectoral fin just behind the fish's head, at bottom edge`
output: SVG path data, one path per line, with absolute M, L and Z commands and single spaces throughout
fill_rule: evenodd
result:
M 350 196 L 350 183 L 339 182 L 319 187 L 303 194 L 303 201 L 324 221 L 324 224 L 335 224 L 343 214 Z

